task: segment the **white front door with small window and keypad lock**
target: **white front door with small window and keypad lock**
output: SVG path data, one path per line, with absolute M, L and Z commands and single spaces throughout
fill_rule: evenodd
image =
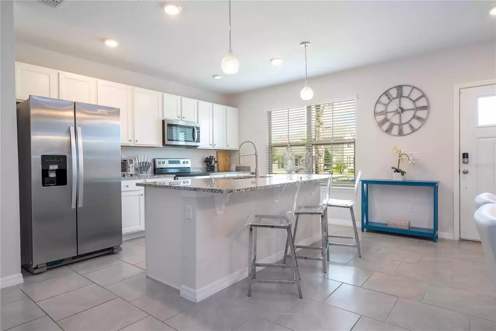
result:
M 462 162 L 468 153 L 468 163 Z M 496 84 L 460 89 L 460 238 L 480 240 L 477 195 L 496 193 Z

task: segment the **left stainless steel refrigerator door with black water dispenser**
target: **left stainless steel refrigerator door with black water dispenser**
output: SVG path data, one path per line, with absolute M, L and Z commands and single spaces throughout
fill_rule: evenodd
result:
M 31 176 L 24 175 L 31 180 L 31 201 L 22 201 L 21 208 L 31 208 L 31 263 L 37 265 L 77 255 L 76 209 L 71 208 L 71 193 L 76 185 L 72 181 L 76 165 L 72 164 L 70 135 L 70 127 L 74 126 L 74 102 L 30 96 L 29 103 L 29 114 L 23 116 L 29 116 L 31 122 Z M 19 130 L 26 130 L 25 135 L 29 136 L 29 127 Z M 19 149 L 25 148 L 29 149 L 29 143 L 19 144 Z M 42 162 L 46 165 L 47 160 L 56 157 L 66 160 L 65 185 L 43 186 Z M 57 165 L 55 169 L 53 165 L 50 169 L 55 173 L 61 167 Z M 61 178 L 58 179 L 60 184 Z

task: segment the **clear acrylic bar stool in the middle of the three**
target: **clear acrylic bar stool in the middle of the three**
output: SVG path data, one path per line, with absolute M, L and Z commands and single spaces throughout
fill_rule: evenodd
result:
M 303 258 L 309 260 L 321 260 L 322 261 L 322 271 L 326 271 L 326 261 L 329 261 L 329 239 L 328 239 L 328 226 L 327 226 L 327 203 L 329 202 L 329 191 L 331 189 L 332 183 L 332 170 L 329 172 L 329 178 L 327 179 L 327 186 L 325 189 L 325 197 L 318 206 L 300 206 L 296 210 L 296 220 L 295 220 L 295 229 L 293 230 L 293 241 L 296 238 L 296 230 L 298 229 L 298 220 L 300 215 L 320 215 L 320 228 L 322 233 L 322 241 L 320 243 L 320 247 L 313 246 L 303 246 L 303 245 L 295 245 L 295 249 L 303 248 L 303 249 L 318 249 L 321 252 L 320 257 L 313 256 L 301 256 L 296 255 L 296 258 Z M 284 250 L 284 259 L 283 263 L 286 263 L 286 257 L 291 257 L 291 255 L 287 255 L 288 246 L 290 243 L 286 242 L 286 249 Z M 294 254 L 294 253 L 293 253 Z

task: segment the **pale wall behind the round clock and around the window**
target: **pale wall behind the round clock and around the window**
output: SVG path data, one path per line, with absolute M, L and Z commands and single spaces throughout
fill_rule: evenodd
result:
M 453 85 L 494 79 L 496 77 L 495 43 L 487 42 L 444 50 L 373 66 L 342 71 L 309 79 L 314 91 L 311 104 L 339 97 L 357 96 L 356 103 L 356 168 L 364 172 L 363 178 L 391 178 L 395 165 L 393 146 L 409 152 L 420 152 L 418 165 L 405 165 L 411 179 L 439 180 L 439 232 L 453 233 Z M 303 66 L 303 63 L 302 63 Z M 311 66 L 311 62 L 309 62 Z M 377 128 L 373 109 L 377 98 L 397 84 L 411 84 L 422 89 L 429 98 L 431 112 L 419 131 L 404 137 L 393 137 Z M 246 93 L 232 95 L 230 103 L 240 109 L 240 141 L 252 140 L 261 150 L 266 144 L 264 112 L 306 104 L 300 98 L 303 81 L 285 83 Z M 247 160 L 247 164 L 248 161 Z M 260 154 L 260 165 L 265 165 L 265 154 Z M 253 166 L 253 164 L 251 164 Z M 261 166 L 261 172 L 265 171 Z M 378 192 L 377 192 L 378 193 Z M 380 196 L 386 201 L 386 190 Z M 393 216 L 411 217 L 406 212 L 410 196 L 415 196 L 422 217 L 427 215 L 426 194 L 403 188 L 403 202 L 397 201 L 384 208 L 398 208 Z M 413 195 L 411 195 L 413 194 Z M 420 200 L 418 200 L 420 199 Z M 425 199 L 425 200 L 422 200 Z M 375 206 L 375 210 L 380 206 Z M 360 192 L 356 205 L 360 220 Z M 342 214 L 343 215 L 343 214 Z M 332 218 L 332 213 L 330 214 Z M 372 220 L 373 216 L 371 216 Z M 373 221 L 385 222 L 385 219 Z M 412 224 L 412 226 L 415 226 Z

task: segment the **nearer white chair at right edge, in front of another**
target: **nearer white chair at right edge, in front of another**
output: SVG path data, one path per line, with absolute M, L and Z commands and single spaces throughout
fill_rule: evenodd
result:
M 486 261 L 493 273 L 496 290 L 496 204 L 482 205 L 474 214 L 475 225 L 481 237 Z

